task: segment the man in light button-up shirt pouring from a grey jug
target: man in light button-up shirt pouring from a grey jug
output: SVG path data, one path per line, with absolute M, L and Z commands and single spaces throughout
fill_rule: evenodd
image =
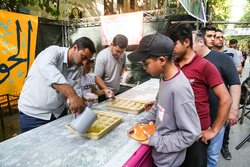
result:
M 70 48 L 50 46 L 36 57 L 18 101 L 22 132 L 62 116 L 67 99 L 72 113 L 82 111 L 85 102 L 77 79 L 95 52 L 93 41 L 82 37 Z

